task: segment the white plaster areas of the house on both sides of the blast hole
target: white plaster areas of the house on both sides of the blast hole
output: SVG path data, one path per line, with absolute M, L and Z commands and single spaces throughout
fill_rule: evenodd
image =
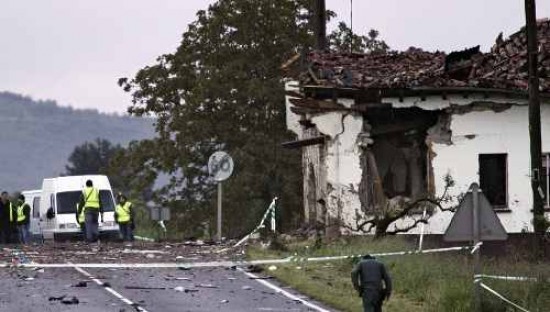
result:
M 295 83 L 287 84 L 292 89 Z M 451 195 L 465 192 L 473 182 L 479 183 L 478 155 L 488 153 L 506 153 L 508 161 L 508 208 L 510 212 L 498 213 L 505 229 L 510 233 L 532 230 L 531 185 L 529 178 L 529 133 L 527 103 L 522 100 L 507 98 L 485 98 L 482 95 L 430 96 L 424 101 L 420 98 L 397 98 L 382 100 L 391 103 L 394 108 L 419 107 L 425 110 L 441 110 L 451 106 L 465 106 L 472 102 L 492 102 L 514 104 L 502 112 L 492 110 L 473 110 L 451 118 L 451 144 L 433 143 L 432 159 L 436 194 L 441 195 L 444 189 L 443 179 L 450 173 L 456 182 Z M 350 106 L 353 102 L 339 99 L 339 103 Z M 542 146 L 543 152 L 550 152 L 550 103 L 541 107 Z M 298 121 L 300 116 L 292 113 L 287 99 L 287 126 L 302 138 L 303 129 Z M 360 211 L 359 184 L 362 177 L 360 167 L 361 150 L 357 146 L 357 136 L 363 128 L 363 118 L 350 112 L 320 113 L 306 116 L 317 130 L 329 136 L 323 147 L 326 150 L 324 163 L 316 164 L 325 172 L 326 185 L 323 190 L 326 196 L 327 210 L 330 217 L 339 218 L 350 225 L 355 224 L 356 212 Z M 307 162 L 307 158 L 304 159 Z M 326 193 L 325 193 L 326 191 Z M 426 226 L 427 233 L 444 233 L 452 218 L 450 212 L 436 212 Z M 403 226 L 407 220 L 399 222 Z M 418 229 L 410 233 L 417 233 Z

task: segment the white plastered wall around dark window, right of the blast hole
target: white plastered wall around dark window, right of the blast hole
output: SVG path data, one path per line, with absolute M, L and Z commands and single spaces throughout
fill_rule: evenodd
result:
M 395 107 L 418 106 L 423 109 L 468 105 L 482 100 L 496 103 L 511 103 L 510 99 L 479 97 L 428 98 L 426 101 L 405 99 L 402 103 L 393 102 Z M 479 154 L 505 153 L 508 165 L 508 208 L 510 212 L 498 212 L 505 229 L 509 233 L 532 231 L 532 193 L 529 177 L 530 150 L 528 108 L 525 101 L 503 111 L 472 111 L 464 115 L 453 115 L 451 120 L 452 144 L 433 144 L 436 156 L 432 160 L 436 193 L 444 190 L 443 179 L 450 173 L 456 182 L 451 195 L 459 195 L 468 190 L 471 183 L 479 183 Z M 550 105 L 541 106 L 542 149 L 550 152 Z M 472 138 L 473 137 L 473 138 Z M 426 233 L 441 234 L 448 227 L 453 214 L 437 212 L 429 220 Z M 413 230 L 410 233 L 416 233 Z

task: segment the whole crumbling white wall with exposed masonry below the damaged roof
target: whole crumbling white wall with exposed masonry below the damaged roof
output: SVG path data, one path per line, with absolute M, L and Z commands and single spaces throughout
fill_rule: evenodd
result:
M 531 229 L 526 101 L 469 94 L 385 98 L 382 102 L 388 103 L 393 110 L 415 108 L 437 113 L 434 124 L 421 134 L 424 141 L 411 141 L 423 146 L 422 153 L 418 153 L 419 149 L 409 143 L 410 146 L 398 144 L 396 147 L 395 142 L 392 143 L 392 135 L 384 137 L 376 134 L 376 125 L 371 125 L 357 112 L 333 111 L 305 116 L 290 112 L 294 116 L 287 116 L 287 122 L 292 123 L 289 129 L 297 132 L 300 138 L 320 134 L 328 138 L 324 145 L 303 148 L 304 207 L 307 207 L 307 214 L 329 227 L 340 230 L 354 227 L 358 217 L 368 217 L 370 212 L 366 208 L 372 206 L 376 199 L 376 175 L 380 178 L 388 172 L 400 177 L 406 171 L 409 177 L 391 181 L 396 192 L 386 194 L 389 197 L 402 196 L 407 188 L 410 189 L 405 193 L 409 195 L 424 193 L 441 196 L 445 189 L 444 178 L 450 174 L 456 182 L 450 195 L 458 198 L 471 183 L 479 182 L 480 154 L 505 153 L 508 162 L 508 209 L 498 215 L 509 232 Z M 338 99 L 338 103 L 351 107 L 353 101 Z M 541 113 L 543 152 L 550 152 L 550 123 L 544 122 L 550 120 L 550 107 L 542 105 Z M 309 134 L 304 131 L 299 118 L 310 121 L 314 130 L 309 130 Z M 375 154 L 378 157 L 374 157 L 376 165 L 373 166 L 368 156 Z M 398 159 L 397 163 L 389 161 L 390 158 Z M 411 166 L 411 160 L 426 165 Z M 420 181 L 418 177 L 424 180 Z M 382 185 L 382 179 L 378 183 Z M 418 187 L 421 184 L 422 189 Z M 412 185 L 416 185 L 417 189 L 411 188 Z M 447 207 L 456 204 L 456 201 L 448 203 Z M 411 217 L 419 217 L 421 211 L 417 213 L 395 222 L 389 229 L 407 226 L 412 222 Z M 451 218 L 450 212 L 434 212 L 426 226 L 426 233 L 443 233 Z M 410 231 L 418 232 L 418 228 Z

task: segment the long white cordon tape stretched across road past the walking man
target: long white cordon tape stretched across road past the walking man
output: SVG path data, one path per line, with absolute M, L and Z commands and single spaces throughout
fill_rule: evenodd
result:
M 429 253 L 441 253 L 448 251 L 460 251 L 471 249 L 470 246 L 437 248 L 437 249 L 425 249 L 425 250 L 411 250 L 411 251 L 398 251 L 398 252 L 386 252 L 386 253 L 374 253 L 371 254 L 375 257 L 388 257 L 388 256 L 403 256 L 403 255 L 417 255 L 417 254 L 429 254 Z M 266 260 L 251 260 L 251 261 L 211 261 L 211 262 L 164 262 L 164 263 L 24 263 L 17 267 L 27 268 L 67 268 L 67 267 L 80 267 L 80 268 L 213 268 L 213 267 L 238 267 L 248 265 L 267 265 L 267 264 L 285 264 L 291 262 L 323 262 L 323 261 L 335 261 L 360 258 L 362 255 L 352 256 L 332 256 L 332 257 L 288 257 L 284 259 L 266 259 Z M 0 264 L 0 267 L 12 267 L 8 263 Z

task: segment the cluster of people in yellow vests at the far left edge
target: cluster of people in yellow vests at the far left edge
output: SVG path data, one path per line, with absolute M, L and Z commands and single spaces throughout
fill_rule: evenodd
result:
M 15 201 L 8 192 L 0 195 L 0 243 L 28 244 L 30 240 L 31 207 L 25 203 L 25 196 Z

